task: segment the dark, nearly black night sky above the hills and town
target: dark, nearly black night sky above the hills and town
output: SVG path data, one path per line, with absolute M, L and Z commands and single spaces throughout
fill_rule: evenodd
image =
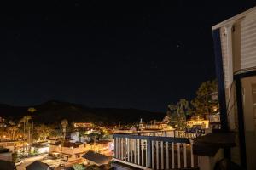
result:
M 215 77 L 211 26 L 255 5 L 232 2 L 16 4 L 0 16 L 0 103 L 166 111 Z

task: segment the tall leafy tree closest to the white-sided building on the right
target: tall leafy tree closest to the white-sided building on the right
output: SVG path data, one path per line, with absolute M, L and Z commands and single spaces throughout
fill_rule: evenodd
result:
M 195 99 L 191 101 L 195 116 L 207 118 L 218 111 L 218 100 L 212 99 L 212 94 L 216 92 L 218 92 L 216 80 L 201 83 Z

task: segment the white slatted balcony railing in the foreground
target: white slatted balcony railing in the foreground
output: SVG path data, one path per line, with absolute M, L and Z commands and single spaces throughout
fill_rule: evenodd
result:
M 197 167 L 193 140 L 139 134 L 114 134 L 114 159 L 141 169 Z

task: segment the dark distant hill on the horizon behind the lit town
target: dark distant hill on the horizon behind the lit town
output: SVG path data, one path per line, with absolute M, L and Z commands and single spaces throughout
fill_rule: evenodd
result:
M 106 122 L 123 123 L 161 120 L 166 115 L 163 112 L 151 112 L 137 109 L 116 108 L 90 108 L 68 102 L 51 100 L 41 105 L 33 105 L 37 111 L 34 113 L 34 122 L 61 122 L 66 118 L 69 122 Z M 25 106 L 11 106 L 0 104 L 0 116 L 11 119 L 20 119 L 30 115 Z

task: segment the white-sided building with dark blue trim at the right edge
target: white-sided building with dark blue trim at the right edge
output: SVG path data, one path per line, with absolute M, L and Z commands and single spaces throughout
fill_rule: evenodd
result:
M 212 26 L 221 128 L 236 133 L 230 158 L 256 169 L 256 7 Z

